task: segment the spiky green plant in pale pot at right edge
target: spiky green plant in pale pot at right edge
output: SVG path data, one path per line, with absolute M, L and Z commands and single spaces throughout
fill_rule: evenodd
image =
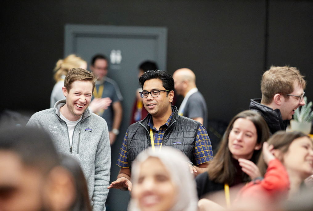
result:
M 293 131 L 300 131 L 305 134 L 311 132 L 313 111 L 311 112 L 312 102 L 307 103 L 304 97 L 305 105 L 295 110 L 294 119 L 290 120 L 290 127 Z

